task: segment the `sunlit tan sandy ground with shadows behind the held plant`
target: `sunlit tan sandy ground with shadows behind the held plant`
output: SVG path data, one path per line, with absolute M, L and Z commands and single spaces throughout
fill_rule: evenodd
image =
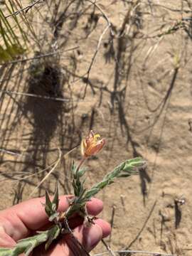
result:
M 148 163 L 139 176 L 117 181 L 98 196 L 105 202 L 102 218 L 111 221 L 114 211 L 112 235 L 106 241 L 113 250 L 129 248 L 189 256 L 192 250 L 190 23 L 187 23 L 189 34 L 181 28 L 173 34 L 158 35 L 169 31 L 182 17 L 190 17 L 191 9 L 186 1 L 183 7 L 181 1 L 153 1 L 151 9 L 146 3 L 142 1 L 132 7 L 125 36 L 117 35 L 110 41 L 107 31 L 102 38 L 90 72 L 95 94 L 88 85 L 85 99 L 80 99 L 86 86 L 80 76 L 89 68 L 106 26 L 102 17 L 87 37 L 87 31 L 94 27 L 94 22 L 90 28 L 86 27 L 89 16 L 80 18 L 70 32 L 68 23 L 63 26 L 60 38 L 64 40 L 67 32 L 69 36 L 69 40 L 64 40 L 65 49 L 79 48 L 63 51 L 60 60 L 48 59 L 43 78 L 38 75 L 41 71 L 38 60 L 37 70 L 29 73 L 29 65 L 18 65 L 12 75 L 18 70 L 20 75 L 11 82 L 2 82 L 3 90 L 53 95 L 70 101 L 1 93 L 1 149 L 14 154 L 1 151 L 0 208 L 25 200 L 32 192 L 33 196 L 43 195 L 46 188 L 53 192 L 57 177 L 63 184 L 60 193 L 69 193 L 70 160 L 80 159 L 80 140 L 94 129 L 107 139 L 107 145 L 101 154 L 87 161 L 90 167 L 87 186 L 99 181 L 124 159 L 142 156 Z M 114 24 L 114 31 L 119 31 L 127 4 L 103 0 L 100 6 Z M 176 11 L 182 8 L 183 12 Z M 49 32 L 46 36 L 50 36 Z M 1 72 L 1 78 L 5 72 Z M 55 91 L 51 91 L 53 87 Z M 59 150 L 57 168 L 34 191 L 50 171 L 50 165 L 57 161 Z M 42 171 L 47 166 L 50 168 Z M 95 252 L 104 250 L 99 245 Z

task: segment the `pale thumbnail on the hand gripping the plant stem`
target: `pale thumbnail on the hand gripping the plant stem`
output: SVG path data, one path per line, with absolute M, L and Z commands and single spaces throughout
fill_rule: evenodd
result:
M 102 239 L 102 228 L 95 224 L 90 228 L 85 228 L 85 247 L 88 251 L 92 250 Z

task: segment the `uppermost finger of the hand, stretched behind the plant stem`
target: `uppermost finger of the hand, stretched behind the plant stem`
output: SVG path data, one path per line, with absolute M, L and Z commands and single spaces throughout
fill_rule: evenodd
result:
M 68 206 L 68 198 L 72 196 L 60 196 L 59 211 L 65 211 Z M 7 210 L 0 212 L 0 226 L 14 240 L 25 238 L 30 235 L 31 230 L 39 230 L 48 224 L 48 216 L 42 206 L 45 198 L 33 198 L 31 200 L 19 203 Z M 102 201 L 92 199 L 87 203 L 87 212 L 91 215 L 97 215 L 102 210 Z

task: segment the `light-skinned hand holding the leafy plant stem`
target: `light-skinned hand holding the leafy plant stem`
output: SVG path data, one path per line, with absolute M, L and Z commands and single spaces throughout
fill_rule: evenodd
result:
M 33 235 L 36 230 L 43 230 L 48 225 L 48 216 L 42 206 L 45 198 L 33 198 L 19 203 L 9 209 L 0 211 L 0 247 L 14 247 L 16 241 Z M 67 196 L 60 196 L 58 210 L 65 211 L 68 208 Z M 98 215 L 103 208 L 102 201 L 92 198 L 87 203 L 87 213 Z M 73 235 L 90 252 L 102 238 L 110 235 L 110 224 L 100 218 L 95 220 L 95 225 L 89 228 L 82 223 L 82 218 L 75 216 L 70 220 Z M 70 235 L 63 235 L 50 250 L 45 252 L 43 247 L 36 248 L 33 256 L 73 256 L 78 255 L 78 246 L 75 247 Z M 75 253 L 76 252 L 76 253 Z

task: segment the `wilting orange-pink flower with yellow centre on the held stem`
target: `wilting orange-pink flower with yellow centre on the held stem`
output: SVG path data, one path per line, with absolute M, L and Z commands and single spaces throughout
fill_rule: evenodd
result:
M 82 156 L 89 157 L 97 154 L 105 145 L 105 139 L 100 139 L 100 134 L 94 134 L 90 131 L 90 134 L 82 140 L 81 153 Z

